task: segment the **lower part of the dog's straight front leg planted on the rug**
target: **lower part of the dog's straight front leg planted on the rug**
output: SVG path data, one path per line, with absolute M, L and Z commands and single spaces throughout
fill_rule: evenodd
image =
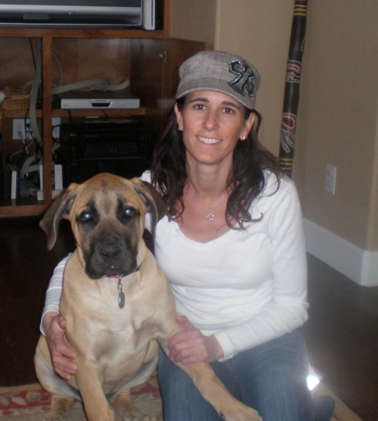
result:
M 114 421 L 114 412 L 109 407 L 107 398 L 102 390 L 102 374 L 94 361 L 76 358 L 78 370 L 76 382 L 88 421 Z

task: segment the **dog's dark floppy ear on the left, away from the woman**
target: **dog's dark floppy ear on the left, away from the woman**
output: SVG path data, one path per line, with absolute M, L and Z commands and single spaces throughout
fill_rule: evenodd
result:
M 77 184 L 72 183 L 65 189 L 46 210 L 43 218 L 39 221 L 39 226 L 47 236 L 47 248 L 51 250 L 58 236 L 59 223 L 62 219 L 67 219 L 69 211 L 74 204 L 77 194 Z

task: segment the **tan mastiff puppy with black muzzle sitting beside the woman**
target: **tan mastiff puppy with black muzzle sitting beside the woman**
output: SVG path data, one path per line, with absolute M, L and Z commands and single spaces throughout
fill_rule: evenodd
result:
M 78 370 L 68 382 L 55 374 L 41 336 L 34 364 L 41 385 L 52 395 L 46 420 L 67 420 L 74 398 L 82 399 L 90 421 L 152 420 L 130 398 L 156 368 L 158 344 L 182 329 L 166 277 L 147 249 L 144 217 L 152 223 L 166 213 L 156 190 L 137 178 L 100 174 L 72 184 L 43 216 L 40 225 L 53 248 L 60 220 L 71 222 L 76 250 L 65 268 L 60 312 Z M 206 363 L 180 366 L 222 418 L 261 420 L 234 399 Z M 109 406 L 107 397 L 110 397 Z

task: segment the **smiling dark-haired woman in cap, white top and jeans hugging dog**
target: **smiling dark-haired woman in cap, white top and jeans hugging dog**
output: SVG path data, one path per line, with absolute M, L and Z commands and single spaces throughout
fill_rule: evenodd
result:
M 220 419 L 172 361 L 211 363 L 264 420 L 314 419 L 297 332 L 308 307 L 302 215 L 295 186 L 257 140 L 259 83 L 255 67 L 228 53 L 184 62 L 168 128 L 142 175 L 169 208 L 155 254 L 185 328 L 159 355 L 166 421 Z M 43 328 L 67 378 L 76 366 L 58 315 L 64 265 L 50 281 Z

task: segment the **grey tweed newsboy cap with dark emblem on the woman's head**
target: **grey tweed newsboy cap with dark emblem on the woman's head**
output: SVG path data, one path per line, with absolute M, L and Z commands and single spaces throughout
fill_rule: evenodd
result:
M 238 55 L 201 51 L 182 63 L 179 74 L 176 99 L 194 91 L 216 91 L 230 95 L 249 109 L 255 108 L 260 75 Z

